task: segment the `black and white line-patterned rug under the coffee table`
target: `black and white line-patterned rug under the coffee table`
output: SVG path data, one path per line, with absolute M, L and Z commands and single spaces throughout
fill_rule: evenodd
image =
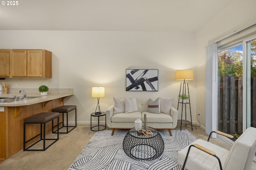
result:
M 181 170 L 178 165 L 178 151 L 196 140 L 188 130 L 158 132 L 164 140 L 164 152 L 150 161 L 137 161 L 123 150 L 123 140 L 128 130 L 98 131 L 84 147 L 68 170 Z

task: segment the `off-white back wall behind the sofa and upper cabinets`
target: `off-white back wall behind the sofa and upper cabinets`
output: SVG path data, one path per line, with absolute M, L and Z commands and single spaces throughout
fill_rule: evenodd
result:
M 175 71 L 196 69 L 196 35 L 189 32 L 129 31 L 0 31 L 1 49 L 47 49 L 52 51 L 52 78 L 6 78 L 9 88 L 74 88 L 65 104 L 78 107 L 78 123 L 89 123 L 96 98 L 91 88 L 105 87 L 100 99 L 106 110 L 116 98 L 173 97 L 177 108 L 180 82 Z M 126 92 L 126 68 L 159 70 L 158 92 Z M 196 75 L 196 72 L 195 72 Z M 53 80 L 57 84 L 53 84 Z M 195 120 L 196 80 L 189 82 L 191 108 Z

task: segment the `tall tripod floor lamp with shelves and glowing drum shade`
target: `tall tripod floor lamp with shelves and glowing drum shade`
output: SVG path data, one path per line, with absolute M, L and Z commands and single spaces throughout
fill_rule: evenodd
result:
M 192 127 L 192 131 L 193 131 L 193 126 L 192 126 L 192 115 L 191 115 L 191 107 L 190 107 L 190 96 L 189 96 L 189 90 L 188 90 L 188 83 L 185 82 L 185 80 L 194 80 L 194 73 L 193 70 L 176 70 L 176 80 L 184 80 L 183 83 L 180 83 L 180 94 L 179 94 L 179 100 L 180 100 L 180 96 L 188 96 L 188 102 L 180 102 L 178 101 L 178 108 L 179 109 L 179 105 L 182 104 L 182 109 L 181 109 L 181 120 L 178 120 L 178 123 L 180 123 L 180 130 L 182 127 L 182 124 L 185 125 L 189 125 L 191 124 Z M 182 90 L 181 90 L 182 87 Z M 183 98 L 182 98 L 183 99 Z M 182 119 L 182 113 L 183 113 L 183 104 L 185 105 L 185 120 Z M 186 105 L 189 104 L 189 109 L 190 109 L 190 120 L 187 120 L 187 109 L 186 109 Z

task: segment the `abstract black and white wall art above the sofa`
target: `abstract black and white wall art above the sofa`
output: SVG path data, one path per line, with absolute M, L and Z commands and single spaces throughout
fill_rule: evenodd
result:
M 158 91 L 158 70 L 126 69 L 126 91 Z

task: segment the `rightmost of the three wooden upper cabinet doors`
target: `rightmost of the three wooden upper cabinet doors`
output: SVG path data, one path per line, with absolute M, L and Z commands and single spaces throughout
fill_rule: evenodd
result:
M 28 77 L 44 76 L 43 50 L 28 50 Z

